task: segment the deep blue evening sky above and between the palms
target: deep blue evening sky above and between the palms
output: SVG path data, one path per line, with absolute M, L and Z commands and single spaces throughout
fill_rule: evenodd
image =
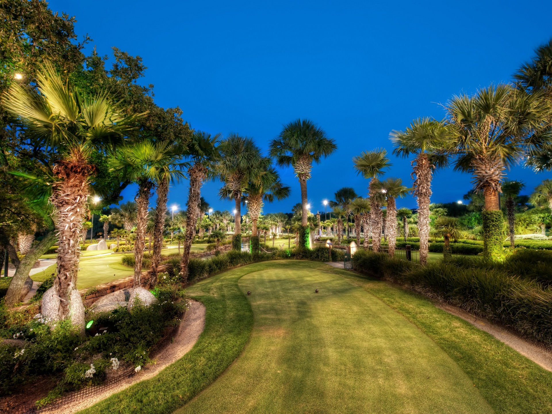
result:
M 156 102 L 178 105 L 195 129 L 253 137 L 264 150 L 282 124 L 298 117 L 319 123 L 338 151 L 315 166 L 308 183 L 312 209 L 341 187 L 366 195 L 351 158 L 392 146 L 389 132 L 413 118 L 443 118 L 439 103 L 506 82 L 533 49 L 552 36 L 549 2 L 163 2 L 51 1 L 77 18 L 100 55 L 116 46 L 139 55 L 155 84 Z M 385 4 L 383 4 L 385 3 Z M 411 185 L 408 160 L 392 157 L 389 176 Z M 521 167 L 509 173 L 530 192 L 548 174 Z M 291 197 L 265 207 L 290 211 L 300 201 L 291 169 L 282 171 Z M 470 177 L 437 173 L 434 202 L 458 200 Z M 233 209 L 216 195 L 215 209 Z M 169 204 L 185 205 L 187 183 L 174 185 Z M 125 200 L 134 198 L 134 188 Z M 412 197 L 399 206 L 415 207 Z

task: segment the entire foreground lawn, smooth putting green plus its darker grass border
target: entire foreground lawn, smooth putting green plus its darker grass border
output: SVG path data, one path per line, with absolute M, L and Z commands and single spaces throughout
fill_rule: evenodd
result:
M 552 413 L 552 373 L 379 280 L 271 261 L 187 292 L 206 306 L 194 348 L 83 412 Z

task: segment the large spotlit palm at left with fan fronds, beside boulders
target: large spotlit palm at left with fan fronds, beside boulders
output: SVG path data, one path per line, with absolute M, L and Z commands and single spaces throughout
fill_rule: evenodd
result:
M 2 94 L 2 106 L 19 120 L 34 144 L 57 150 L 60 156 L 52 168 L 55 178 L 50 197 L 59 236 L 53 289 L 61 298 L 57 317 L 67 319 L 71 317 L 72 290 L 77 285 L 78 237 L 96 171 L 88 156 L 123 145 L 125 134 L 145 114 L 120 115 L 107 93 L 91 96 L 73 89 L 50 62 L 41 65 L 36 86 L 38 92 L 12 83 Z M 82 302 L 77 306 L 82 307 Z

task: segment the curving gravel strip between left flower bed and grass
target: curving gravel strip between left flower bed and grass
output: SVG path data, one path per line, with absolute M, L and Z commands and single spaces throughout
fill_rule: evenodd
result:
M 71 406 L 64 406 L 56 408 L 56 410 L 47 411 L 62 414 L 70 414 L 83 410 L 96 404 L 98 401 L 109 397 L 116 392 L 123 391 L 129 386 L 150 379 L 157 375 L 163 368 L 176 362 L 182 358 L 197 342 L 201 332 L 205 328 L 205 306 L 198 301 L 189 300 L 188 310 L 184 316 L 184 320 L 178 327 L 178 331 L 174 336 L 174 341 L 161 351 L 155 358 L 155 364 L 147 365 L 139 374 L 132 376 L 126 380 L 121 381 L 118 385 L 109 388 L 103 392 L 99 392 L 96 395 L 88 397 L 87 399 L 72 402 Z

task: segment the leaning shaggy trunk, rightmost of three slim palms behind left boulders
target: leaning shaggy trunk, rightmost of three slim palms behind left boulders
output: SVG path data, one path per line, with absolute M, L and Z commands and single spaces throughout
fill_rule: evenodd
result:
M 188 169 L 190 188 L 188 190 L 188 206 L 186 215 L 186 237 L 182 249 L 180 261 L 180 273 L 182 281 L 188 281 L 188 263 L 190 262 L 190 250 L 195 236 L 195 220 L 199 216 L 199 200 L 201 197 L 201 185 L 206 177 L 207 169 L 201 163 L 195 163 Z

